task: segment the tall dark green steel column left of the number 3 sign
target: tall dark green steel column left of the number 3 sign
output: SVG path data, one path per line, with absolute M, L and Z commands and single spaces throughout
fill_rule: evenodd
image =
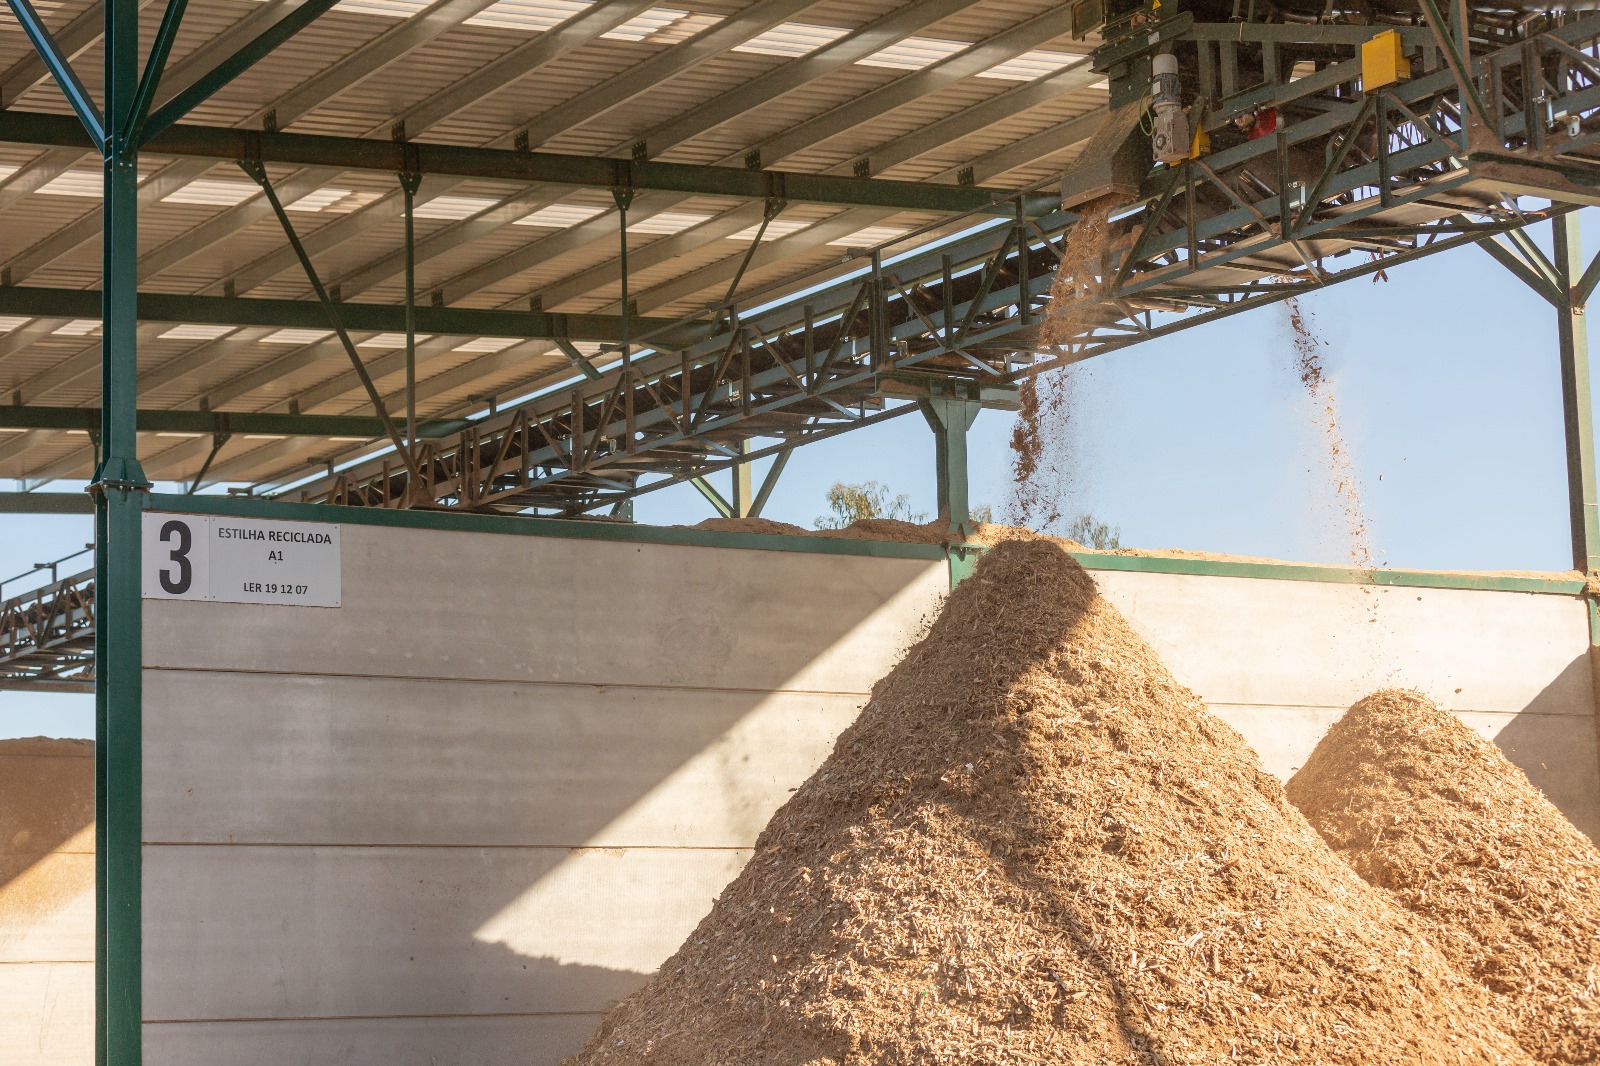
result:
M 94 472 L 96 1061 L 141 1061 L 139 517 L 149 480 L 134 435 L 139 0 L 106 0 L 101 463 Z

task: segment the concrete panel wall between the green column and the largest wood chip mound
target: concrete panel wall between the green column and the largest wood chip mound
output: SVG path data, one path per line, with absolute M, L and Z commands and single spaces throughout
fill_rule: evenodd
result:
M 146 602 L 152 1066 L 560 1061 L 947 587 L 942 559 L 341 536 L 341 608 Z

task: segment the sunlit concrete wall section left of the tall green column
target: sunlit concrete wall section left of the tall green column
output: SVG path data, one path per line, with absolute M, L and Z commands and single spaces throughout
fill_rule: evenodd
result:
M 94 1063 L 94 744 L 0 741 L 0 1063 Z

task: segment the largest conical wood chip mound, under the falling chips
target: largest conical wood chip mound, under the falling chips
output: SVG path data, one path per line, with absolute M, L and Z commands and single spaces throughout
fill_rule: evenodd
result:
M 1050 541 L 987 552 L 574 1066 L 1531 1063 Z

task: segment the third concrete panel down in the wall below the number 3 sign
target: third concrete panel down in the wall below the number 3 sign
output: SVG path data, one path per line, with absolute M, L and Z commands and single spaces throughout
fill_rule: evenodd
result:
M 749 856 L 675 847 L 146 845 L 144 1015 L 189 1023 L 603 1010 L 677 951 Z

